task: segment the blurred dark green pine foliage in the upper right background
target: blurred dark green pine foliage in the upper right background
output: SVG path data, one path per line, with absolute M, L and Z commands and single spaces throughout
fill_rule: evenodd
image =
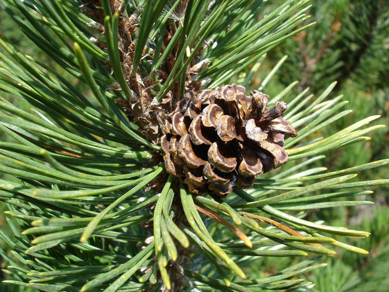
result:
M 288 55 L 276 82 L 287 86 L 298 80 L 296 92 L 309 87 L 316 95 L 337 81 L 332 94 L 343 94 L 349 101 L 343 109 L 353 109 L 354 113 L 347 120 L 339 120 L 332 132 L 371 114 L 380 114 L 380 123 L 388 125 L 389 2 L 328 0 L 312 5 L 307 14 L 312 15 L 309 21 L 317 21 L 314 28 L 287 39 L 268 54 L 270 66 Z M 387 158 L 388 131 L 384 128 L 371 142 L 349 147 L 347 155 L 340 155 L 343 150 L 331 153 L 327 158 L 330 170 Z M 389 174 L 385 168 L 378 171 L 382 177 Z M 377 173 L 364 175 L 375 177 Z

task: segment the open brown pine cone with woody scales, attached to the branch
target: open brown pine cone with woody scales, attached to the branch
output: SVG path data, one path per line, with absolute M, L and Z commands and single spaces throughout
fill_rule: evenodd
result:
M 189 91 L 175 110 L 162 117 L 161 147 L 166 171 L 195 194 L 208 190 L 225 197 L 234 186 L 249 188 L 257 174 L 288 160 L 284 134 L 296 137 L 281 118 L 287 108 L 268 95 L 236 84 Z

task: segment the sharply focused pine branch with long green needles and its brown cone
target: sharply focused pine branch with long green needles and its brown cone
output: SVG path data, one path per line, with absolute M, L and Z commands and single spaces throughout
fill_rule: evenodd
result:
M 337 198 L 389 182 L 349 182 L 389 160 L 312 167 L 368 140 L 383 127 L 366 127 L 379 116 L 321 137 L 351 113 L 338 111 L 342 96 L 329 98 L 335 82 L 318 96 L 294 96 L 296 83 L 268 96 L 281 60 L 251 87 L 265 53 L 313 25 L 300 26 L 309 0 L 272 11 L 265 2 L 1 0 L 56 63 L 0 35 L 0 90 L 23 104 L 0 100 L 0 128 L 12 139 L 0 142 L 0 169 L 11 175 L 0 200 L 14 218 L 12 236 L 0 230 L 12 250 L 0 250 L 6 285 L 302 291 L 312 283 L 299 275 L 325 266 L 315 261 L 334 247 L 367 253 L 333 237 L 368 232 L 306 215 L 372 204 Z M 308 253 L 318 256 L 274 274 L 255 263 Z

